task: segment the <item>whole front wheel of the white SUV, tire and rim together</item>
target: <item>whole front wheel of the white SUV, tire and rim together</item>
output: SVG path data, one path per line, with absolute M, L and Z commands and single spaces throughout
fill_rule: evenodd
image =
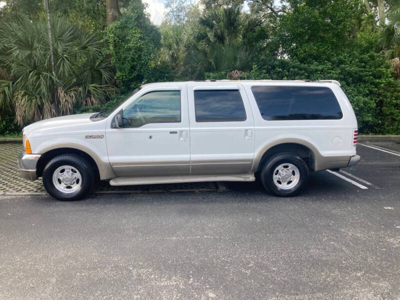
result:
M 43 170 L 43 185 L 47 192 L 59 200 L 77 200 L 94 183 L 93 170 L 80 156 L 63 154 L 52 158 Z

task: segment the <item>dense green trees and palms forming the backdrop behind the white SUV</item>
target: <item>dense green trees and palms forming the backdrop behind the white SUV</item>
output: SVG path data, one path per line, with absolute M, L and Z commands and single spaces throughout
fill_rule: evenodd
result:
M 379 26 L 377 2 L 367 0 L 286 0 L 279 6 L 274 0 L 165 0 L 159 26 L 150 22 L 141 0 L 119 0 L 121 15 L 108 26 L 105 0 L 50 0 L 54 34 L 60 23 L 65 32 L 74 32 L 73 41 L 56 44 L 55 77 L 49 71 L 44 0 L 6 2 L 0 10 L 2 120 L 21 123 L 52 115 L 40 115 L 52 109 L 51 80 L 64 93 L 82 90 L 62 111 L 70 113 L 99 109 L 103 101 L 110 106 L 143 82 L 336 79 L 361 132 L 400 134 L 395 0 L 384 2 L 387 21 Z M 79 46 L 84 40 L 87 46 Z M 67 72 L 64 60 L 73 65 Z M 90 84 L 96 89 L 85 88 Z

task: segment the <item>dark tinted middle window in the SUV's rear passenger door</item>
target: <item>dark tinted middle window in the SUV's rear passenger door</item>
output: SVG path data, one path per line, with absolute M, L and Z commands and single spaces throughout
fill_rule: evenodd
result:
M 195 90 L 196 122 L 244 121 L 246 112 L 238 90 Z

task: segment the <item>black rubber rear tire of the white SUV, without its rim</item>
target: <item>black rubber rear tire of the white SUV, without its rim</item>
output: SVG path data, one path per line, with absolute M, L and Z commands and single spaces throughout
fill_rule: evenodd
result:
M 280 188 L 274 183 L 273 180 L 273 172 L 275 171 L 275 168 L 285 163 L 293 164 L 299 171 L 298 182 L 289 189 Z M 304 160 L 296 154 L 289 152 L 279 153 L 265 161 L 260 172 L 260 179 L 263 187 L 269 193 L 277 196 L 293 196 L 297 194 L 306 184 L 308 180 L 308 167 Z

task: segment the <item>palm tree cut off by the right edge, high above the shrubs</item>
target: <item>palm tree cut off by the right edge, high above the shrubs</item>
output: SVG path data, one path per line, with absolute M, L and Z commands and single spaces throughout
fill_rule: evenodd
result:
M 400 78 L 400 7 L 393 9 L 387 15 L 388 23 L 380 26 L 380 46 L 384 55 Z

